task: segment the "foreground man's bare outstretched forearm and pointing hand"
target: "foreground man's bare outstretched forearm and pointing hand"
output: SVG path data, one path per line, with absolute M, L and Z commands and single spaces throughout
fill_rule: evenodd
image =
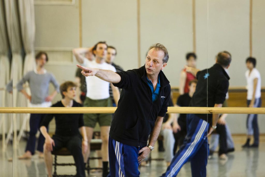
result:
M 76 66 L 83 70 L 81 73 L 84 76 L 97 76 L 98 78 L 104 81 L 110 82 L 110 83 L 119 83 L 121 81 L 121 76 L 111 70 L 101 70 L 98 68 L 87 68 L 87 67 L 80 66 L 79 64 L 77 64 Z

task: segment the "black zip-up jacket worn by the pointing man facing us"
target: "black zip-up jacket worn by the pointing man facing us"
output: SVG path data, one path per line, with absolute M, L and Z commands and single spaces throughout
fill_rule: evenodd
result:
M 160 71 L 160 95 L 152 102 L 145 66 L 117 74 L 121 76 L 121 81 L 113 85 L 122 88 L 122 91 L 109 135 L 126 145 L 146 146 L 157 116 L 166 115 L 171 92 L 169 81 Z

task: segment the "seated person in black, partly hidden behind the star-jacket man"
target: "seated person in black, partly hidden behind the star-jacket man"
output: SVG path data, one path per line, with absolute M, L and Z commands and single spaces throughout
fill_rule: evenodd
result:
M 196 79 L 189 81 L 189 88 L 188 88 L 189 92 L 183 95 L 180 95 L 178 97 L 177 103 L 175 105 L 176 107 L 188 107 L 189 106 L 189 103 L 191 102 L 191 98 L 195 92 L 196 85 L 197 85 Z M 174 144 L 174 149 L 173 149 L 174 155 L 176 153 L 178 145 L 180 147 L 183 144 L 184 138 L 187 135 L 186 116 L 187 114 L 179 114 L 179 118 L 176 122 L 179 128 L 178 128 L 178 131 L 174 133 L 174 137 L 175 137 L 175 144 Z

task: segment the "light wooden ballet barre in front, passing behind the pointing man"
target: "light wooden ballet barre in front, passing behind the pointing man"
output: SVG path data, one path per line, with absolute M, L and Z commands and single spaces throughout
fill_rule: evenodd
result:
M 0 113 L 53 113 L 53 114 L 78 114 L 78 113 L 114 113 L 117 107 L 1 107 Z M 183 114 L 265 114 L 265 108 L 249 107 L 168 107 L 167 113 Z

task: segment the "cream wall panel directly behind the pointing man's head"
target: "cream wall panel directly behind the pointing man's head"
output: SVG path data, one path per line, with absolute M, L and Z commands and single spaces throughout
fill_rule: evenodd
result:
M 191 0 L 140 2 L 141 66 L 145 63 L 149 46 L 155 43 L 165 45 L 169 61 L 164 72 L 171 86 L 176 86 L 186 63 L 185 54 L 193 50 Z

